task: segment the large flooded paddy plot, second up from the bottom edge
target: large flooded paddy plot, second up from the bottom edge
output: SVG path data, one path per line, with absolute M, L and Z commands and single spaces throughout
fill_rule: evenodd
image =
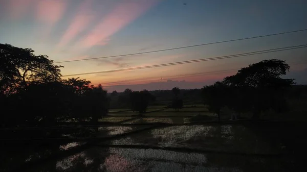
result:
M 198 148 L 250 154 L 280 152 L 278 146 L 271 145 L 247 128 L 237 125 L 163 127 L 115 139 L 112 144 Z

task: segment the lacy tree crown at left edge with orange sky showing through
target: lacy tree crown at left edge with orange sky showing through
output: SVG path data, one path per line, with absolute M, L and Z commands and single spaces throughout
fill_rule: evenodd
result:
M 0 43 L 0 89 L 7 93 L 29 83 L 61 80 L 60 67 L 47 55 L 34 55 L 30 48 Z

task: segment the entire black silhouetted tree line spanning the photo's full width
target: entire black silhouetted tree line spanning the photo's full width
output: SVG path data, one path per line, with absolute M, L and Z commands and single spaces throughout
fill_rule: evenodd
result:
M 133 91 L 107 94 L 101 85 L 79 78 L 61 79 L 60 68 L 46 55 L 34 55 L 30 48 L 0 44 L 0 105 L 2 127 L 54 126 L 57 122 L 96 123 L 109 108 L 129 108 L 144 114 L 149 105 L 179 111 L 185 101 L 201 101 L 221 118 L 224 107 L 240 116 L 289 110 L 287 99 L 306 95 L 305 86 L 294 79 L 282 79 L 290 66 L 283 60 L 264 60 L 238 70 L 202 89 Z M 295 89 L 293 89 L 293 88 Z

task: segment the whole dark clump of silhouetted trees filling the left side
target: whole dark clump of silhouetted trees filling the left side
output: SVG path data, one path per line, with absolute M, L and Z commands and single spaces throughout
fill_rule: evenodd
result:
M 2 122 L 52 125 L 59 121 L 98 121 L 106 115 L 106 91 L 79 78 L 62 80 L 60 67 L 30 48 L 0 44 Z M 18 108 L 15 108 L 18 107 Z

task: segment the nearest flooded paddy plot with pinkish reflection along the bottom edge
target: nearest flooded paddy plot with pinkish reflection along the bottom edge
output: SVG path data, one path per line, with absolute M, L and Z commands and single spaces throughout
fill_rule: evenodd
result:
M 281 162 L 237 155 L 91 148 L 33 171 L 286 171 Z

